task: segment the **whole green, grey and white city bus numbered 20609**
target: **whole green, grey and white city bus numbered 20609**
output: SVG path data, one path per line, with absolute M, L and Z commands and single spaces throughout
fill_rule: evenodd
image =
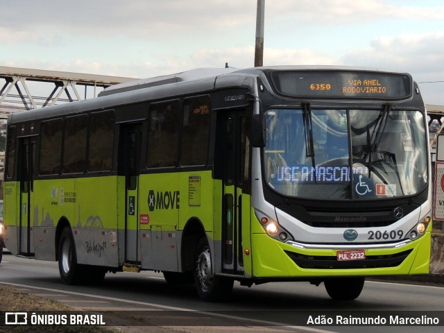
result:
M 427 116 L 409 74 L 200 69 L 11 114 L 6 247 L 67 284 L 162 271 L 203 300 L 233 282 L 429 272 Z

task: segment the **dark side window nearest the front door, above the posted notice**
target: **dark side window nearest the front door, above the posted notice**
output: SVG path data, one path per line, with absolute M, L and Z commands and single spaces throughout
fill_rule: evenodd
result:
M 210 135 L 211 101 L 209 96 L 186 99 L 182 123 L 182 165 L 207 164 Z

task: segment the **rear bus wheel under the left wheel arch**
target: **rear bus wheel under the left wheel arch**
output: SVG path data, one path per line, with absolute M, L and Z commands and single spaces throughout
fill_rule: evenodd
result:
M 71 229 L 65 227 L 58 244 L 58 271 L 66 284 L 77 284 L 82 278 L 82 268 L 77 264 L 76 246 Z

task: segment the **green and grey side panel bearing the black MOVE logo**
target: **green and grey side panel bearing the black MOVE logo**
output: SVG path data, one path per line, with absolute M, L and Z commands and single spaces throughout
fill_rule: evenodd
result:
M 152 173 L 139 178 L 142 266 L 178 271 L 182 232 L 191 219 L 212 238 L 214 181 L 211 171 Z M 151 247 L 146 241 L 151 239 Z

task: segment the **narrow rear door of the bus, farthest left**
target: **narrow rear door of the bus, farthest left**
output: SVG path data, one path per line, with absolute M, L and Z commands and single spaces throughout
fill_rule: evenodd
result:
M 24 137 L 19 141 L 19 181 L 20 181 L 20 219 L 19 219 L 19 255 L 33 257 L 34 250 L 34 221 L 37 216 L 33 210 L 34 192 L 34 156 L 35 138 Z

